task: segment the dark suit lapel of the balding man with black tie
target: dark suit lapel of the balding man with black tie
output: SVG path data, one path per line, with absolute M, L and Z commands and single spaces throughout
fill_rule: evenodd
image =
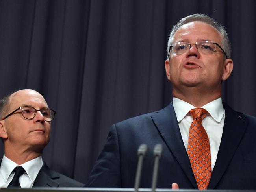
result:
M 50 168 L 45 164 L 45 162 L 43 162 L 43 166 L 37 174 L 33 187 L 58 187 L 59 183 L 53 180 L 58 178 L 58 173 L 50 170 Z

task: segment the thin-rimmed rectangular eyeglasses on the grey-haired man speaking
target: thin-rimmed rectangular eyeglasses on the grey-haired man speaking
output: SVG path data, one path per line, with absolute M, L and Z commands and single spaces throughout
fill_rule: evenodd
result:
M 188 43 L 188 42 L 176 42 L 173 45 L 169 47 L 169 53 L 172 52 L 173 54 L 184 54 L 187 53 L 191 45 L 195 45 L 198 51 L 202 53 L 210 53 L 214 52 L 216 50 L 216 45 L 222 50 L 222 52 L 225 54 L 226 58 L 228 58 L 227 54 L 224 52 L 223 48 L 217 43 L 213 41 L 199 41 L 196 43 Z

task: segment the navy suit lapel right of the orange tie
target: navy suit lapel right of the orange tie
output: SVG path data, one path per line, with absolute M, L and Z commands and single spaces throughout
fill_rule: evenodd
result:
M 221 177 L 228 168 L 237 147 L 239 146 L 248 124 L 248 120 L 243 117 L 242 114 L 237 113 L 228 105 L 224 105 L 224 108 L 225 121 L 223 134 L 208 189 L 215 188 L 219 183 Z

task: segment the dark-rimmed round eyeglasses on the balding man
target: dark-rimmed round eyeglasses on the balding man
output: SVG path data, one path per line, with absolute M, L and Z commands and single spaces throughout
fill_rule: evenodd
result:
M 4 118 L 2 118 L 2 120 L 6 119 L 7 117 L 11 116 L 13 113 L 15 113 L 16 111 L 18 110 L 21 110 L 21 114 L 22 116 L 24 116 L 25 119 L 33 119 L 36 114 L 37 114 L 37 111 L 40 111 L 41 114 L 44 116 L 45 118 L 45 121 L 52 121 L 54 119 L 54 116 L 55 116 L 55 113 L 56 111 L 54 111 L 53 109 L 35 109 L 34 107 L 30 107 L 30 106 L 24 106 L 24 107 L 19 107 L 18 109 L 15 109 L 13 112 L 11 112 L 10 114 L 8 114 L 7 116 L 5 116 Z

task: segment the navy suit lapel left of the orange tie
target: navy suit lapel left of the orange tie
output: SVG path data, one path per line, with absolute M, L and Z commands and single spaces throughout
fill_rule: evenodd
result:
M 193 185 L 194 188 L 197 188 L 189 157 L 180 134 L 180 128 L 173 109 L 173 103 L 171 102 L 170 105 L 158 113 L 152 114 L 151 117 L 169 150 L 173 153 L 177 162 L 180 164 L 182 170 L 191 182 L 191 185 Z

